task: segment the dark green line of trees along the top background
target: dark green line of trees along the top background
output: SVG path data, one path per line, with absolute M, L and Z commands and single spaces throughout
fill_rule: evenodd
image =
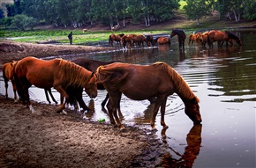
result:
M 7 18 L 0 10 L 1 23 L 20 29 L 39 23 L 77 28 L 97 22 L 112 27 L 143 21 L 150 26 L 173 18 L 178 9 L 198 25 L 212 11 L 219 11 L 220 19 L 256 19 L 255 0 L 14 0 L 6 8 Z

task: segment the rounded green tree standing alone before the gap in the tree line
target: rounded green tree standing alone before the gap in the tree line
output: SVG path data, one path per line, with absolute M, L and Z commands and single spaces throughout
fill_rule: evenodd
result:
M 200 26 L 200 18 L 207 16 L 213 9 L 212 0 L 186 0 L 184 11 L 188 19 L 197 20 Z

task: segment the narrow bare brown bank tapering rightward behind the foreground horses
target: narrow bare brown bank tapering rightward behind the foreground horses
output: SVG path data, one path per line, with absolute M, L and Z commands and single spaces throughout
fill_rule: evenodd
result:
M 27 55 L 37 58 L 55 55 L 76 55 L 113 50 L 113 47 L 77 46 L 62 44 L 32 44 L 26 42 L 13 42 L 0 40 L 0 68 L 6 62 L 20 60 Z

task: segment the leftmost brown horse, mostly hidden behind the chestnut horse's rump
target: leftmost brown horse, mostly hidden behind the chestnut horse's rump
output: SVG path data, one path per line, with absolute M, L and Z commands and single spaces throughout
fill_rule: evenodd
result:
M 8 62 L 4 63 L 3 66 L 3 77 L 4 77 L 4 87 L 5 87 L 5 98 L 8 99 L 8 81 L 11 80 L 12 84 L 12 90 L 14 92 L 14 102 L 18 102 L 18 97 L 16 94 L 17 88 L 16 84 L 14 82 L 14 76 L 13 76 L 13 67 L 15 66 L 17 62 Z

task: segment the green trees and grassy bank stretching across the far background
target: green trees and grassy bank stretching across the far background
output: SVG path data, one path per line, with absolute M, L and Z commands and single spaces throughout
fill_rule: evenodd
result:
M 252 0 L 100 1 L 14 1 L 6 6 L 8 17 L 0 15 L 0 36 L 19 37 L 11 39 L 19 42 L 67 43 L 72 31 L 74 44 L 87 44 L 106 41 L 110 33 L 159 34 L 174 28 L 193 33 L 256 26 Z M 114 25 L 120 26 L 117 32 L 110 30 Z

